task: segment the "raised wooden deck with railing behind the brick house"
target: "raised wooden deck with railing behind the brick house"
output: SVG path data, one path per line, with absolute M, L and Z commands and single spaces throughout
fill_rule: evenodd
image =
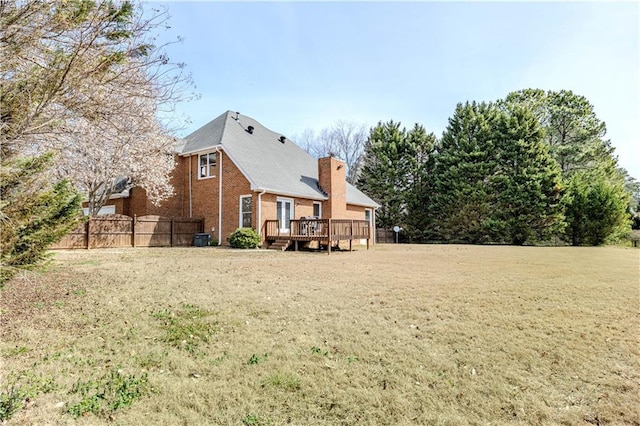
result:
M 349 250 L 353 247 L 353 240 L 367 240 L 367 249 L 371 239 L 371 227 L 366 220 L 351 219 L 294 219 L 288 231 L 280 229 L 280 222 L 267 220 L 264 226 L 264 236 L 267 242 L 288 240 L 295 244 L 296 250 L 300 241 L 319 241 L 327 245 L 327 252 L 331 253 L 333 242 L 349 241 Z

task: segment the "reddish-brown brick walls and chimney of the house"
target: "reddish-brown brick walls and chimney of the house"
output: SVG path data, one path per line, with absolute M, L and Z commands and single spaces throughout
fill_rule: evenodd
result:
M 222 229 L 219 230 L 218 206 L 220 189 L 220 164 L 222 163 Z M 216 165 L 212 169 L 212 177 L 198 177 L 198 155 L 189 157 L 176 156 L 176 168 L 171 174 L 174 195 L 155 206 L 147 198 L 141 188 L 131 189 L 127 199 L 113 200 L 116 213 L 129 216 L 157 214 L 169 217 L 202 217 L 204 232 L 211 238 L 227 245 L 227 238 L 240 226 L 240 196 L 251 195 L 251 225 L 264 233 L 264 222 L 277 218 L 278 198 L 293 201 L 293 218 L 300 219 L 313 216 L 313 204 L 317 200 L 295 198 L 265 193 L 262 199 L 262 215 L 258 221 L 258 193 L 251 191 L 251 185 L 231 159 L 221 151 L 216 153 Z M 344 162 L 334 157 L 318 160 L 318 176 L 320 187 L 330 196 L 322 203 L 322 218 L 365 219 L 365 207 L 346 203 L 346 180 Z M 191 182 L 191 188 L 189 188 Z M 191 200 L 191 201 L 190 201 Z M 222 231 L 221 233 L 219 231 Z

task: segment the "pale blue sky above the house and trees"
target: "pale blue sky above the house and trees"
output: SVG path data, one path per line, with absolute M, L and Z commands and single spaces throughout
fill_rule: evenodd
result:
M 585 96 L 640 179 L 636 2 L 149 2 L 168 7 L 201 98 L 185 136 L 226 110 L 287 136 L 336 120 L 440 136 L 458 102 L 528 87 Z

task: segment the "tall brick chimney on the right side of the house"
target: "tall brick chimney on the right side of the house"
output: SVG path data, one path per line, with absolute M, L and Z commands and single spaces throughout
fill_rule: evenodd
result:
M 333 156 L 318 159 L 318 185 L 328 196 L 322 206 L 324 219 L 347 217 L 347 180 L 344 161 Z

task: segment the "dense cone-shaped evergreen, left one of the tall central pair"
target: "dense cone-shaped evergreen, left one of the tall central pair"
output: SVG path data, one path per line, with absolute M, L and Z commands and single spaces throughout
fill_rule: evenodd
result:
M 458 104 L 437 149 L 429 212 L 437 238 L 484 242 L 495 197 L 488 176 L 495 170 L 493 104 Z

